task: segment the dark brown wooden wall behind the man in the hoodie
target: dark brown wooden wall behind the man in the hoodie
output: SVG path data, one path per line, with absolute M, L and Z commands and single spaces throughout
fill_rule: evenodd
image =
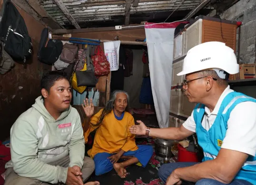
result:
M 25 20 L 33 44 L 33 55 L 25 69 L 15 63 L 7 74 L 0 74 L 0 140 L 10 136 L 10 128 L 20 114 L 31 107 L 40 95 L 40 78 L 51 66 L 38 61 L 37 52 L 44 26 L 25 11 L 17 8 Z

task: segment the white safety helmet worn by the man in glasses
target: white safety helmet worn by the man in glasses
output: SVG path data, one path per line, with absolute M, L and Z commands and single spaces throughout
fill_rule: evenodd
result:
M 226 73 L 238 73 L 239 65 L 237 64 L 234 50 L 223 42 L 199 44 L 187 52 L 182 71 L 177 75 L 203 70 L 215 70 L 218 76 L 223 79 L 226 79 Z

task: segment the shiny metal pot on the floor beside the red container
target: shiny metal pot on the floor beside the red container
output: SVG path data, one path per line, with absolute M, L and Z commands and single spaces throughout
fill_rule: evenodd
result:
M 155 139 L 155 152 L 160 157 L 173 157 L 171 147 L 175 144 L 173 140 Z

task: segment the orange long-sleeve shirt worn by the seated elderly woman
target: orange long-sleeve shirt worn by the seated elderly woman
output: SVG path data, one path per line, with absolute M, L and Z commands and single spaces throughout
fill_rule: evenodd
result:
M 89 133 L 98 128 L 92 149 L 88 151 L 88 155 L 93 158 L 96 154 L 102 152 L 114 154 L 120 149 L 125 152 L 137 150 L 135 135 L 129 132 L 129 128 L 135 124 L 133 116 L 125 112 L 123 119 L 117 120 L 114 112 L 111 111 L 104 118 L 101 125 L 96 126 L 102 111 L 103 109 L 91 118 L 89 129 L 84 133 L 85 142 L 87 142 Z

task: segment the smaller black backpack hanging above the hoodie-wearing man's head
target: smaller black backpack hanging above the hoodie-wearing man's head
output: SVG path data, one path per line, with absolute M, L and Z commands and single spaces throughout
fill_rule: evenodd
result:
M 50 39 L 48 28 L 44 28 L 39 42 L 38 59 L 44 64 L 53 65 L 61 54 L 63 43 L 60 40 Z

